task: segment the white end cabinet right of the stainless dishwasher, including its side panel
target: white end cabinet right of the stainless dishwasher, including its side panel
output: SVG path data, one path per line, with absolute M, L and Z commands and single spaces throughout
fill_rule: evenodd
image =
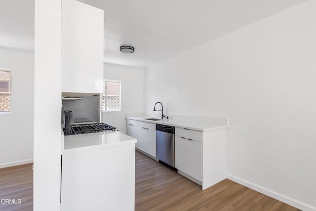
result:
M 226 178 L 226 128 L 175 127 L 175 168 L 206 189 Z

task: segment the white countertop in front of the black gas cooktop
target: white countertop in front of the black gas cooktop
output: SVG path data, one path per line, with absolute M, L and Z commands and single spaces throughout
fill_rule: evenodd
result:
M 136 143 L 136 139 L 119 131 L 65 135 L 62 155 Z

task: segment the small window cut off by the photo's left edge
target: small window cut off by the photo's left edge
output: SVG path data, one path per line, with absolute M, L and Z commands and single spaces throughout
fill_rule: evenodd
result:
M 0 69 L 0 113 L 10 112 L 11 72 Z

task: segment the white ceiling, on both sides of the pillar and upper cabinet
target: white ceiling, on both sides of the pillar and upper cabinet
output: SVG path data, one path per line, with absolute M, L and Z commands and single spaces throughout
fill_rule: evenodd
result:
M 144 69 L 306 0 L 80 1 L 104 10 L 104 62 Z M 0 46 L 33 50 L 34 0 L 1 0 Z

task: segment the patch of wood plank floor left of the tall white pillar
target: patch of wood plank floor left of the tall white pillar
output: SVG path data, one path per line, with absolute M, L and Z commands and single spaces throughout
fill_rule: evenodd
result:
M 0 211 L 33 211 L 32 165 L 0 169 Z M 5 203 L 5 199 L 17 204 Z

